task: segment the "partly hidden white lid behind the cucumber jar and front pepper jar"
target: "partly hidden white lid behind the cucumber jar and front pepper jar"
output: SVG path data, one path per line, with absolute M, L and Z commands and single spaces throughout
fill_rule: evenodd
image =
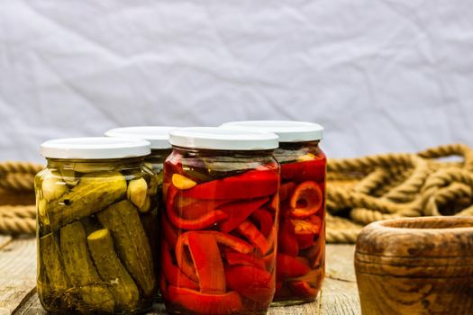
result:
M 150 148 L 171 148 L 169 143 L 169 131 L 177 127 L 170 126 L 139 126 L 123 127 L 107 130 L 105 136 L 118 138 L 145 139 L 150 141 Z

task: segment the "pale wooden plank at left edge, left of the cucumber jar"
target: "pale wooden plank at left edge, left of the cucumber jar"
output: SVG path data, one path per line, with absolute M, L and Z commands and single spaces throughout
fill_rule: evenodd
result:
M 0 314 L 11 314 L 36 285 L 36 241 L 16 238 L 0 248 Z

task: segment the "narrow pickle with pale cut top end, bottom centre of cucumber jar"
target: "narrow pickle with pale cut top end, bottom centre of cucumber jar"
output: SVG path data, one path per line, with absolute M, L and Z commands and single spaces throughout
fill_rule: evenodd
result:
M 117 306 L 133 311 L 140 298 L 138 287 L 117 257 L 108 229 L 96 230 L 87 237 L 87 243 L 98 275 L 111 284 Z

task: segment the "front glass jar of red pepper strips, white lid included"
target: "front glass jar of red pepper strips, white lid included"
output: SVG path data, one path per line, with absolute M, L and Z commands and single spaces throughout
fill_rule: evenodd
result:
M 279 166 L 272 133 L 170 132 L 159 285 L 175 314 L 266 314 L 275 292 Z

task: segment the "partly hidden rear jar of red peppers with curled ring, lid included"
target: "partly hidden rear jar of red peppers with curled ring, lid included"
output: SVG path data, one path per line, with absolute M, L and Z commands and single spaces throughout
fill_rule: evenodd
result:
M 281 165 L 277 284 L 273 305 L 312 302 L 325 273 L 323 127 L 304 121 L 233 121 L 223 128 L 266 130 L 279 136 Z

